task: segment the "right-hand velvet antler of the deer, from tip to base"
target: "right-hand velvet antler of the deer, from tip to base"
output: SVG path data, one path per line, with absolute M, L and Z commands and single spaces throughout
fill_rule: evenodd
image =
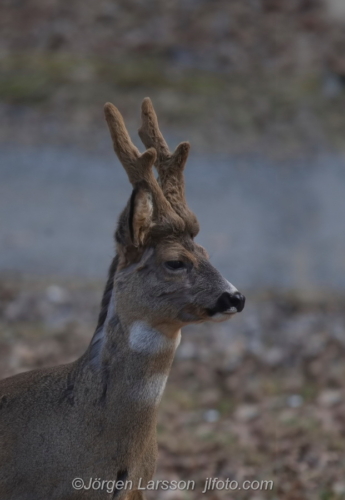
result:
M 156 167 L 163 193 L 176 213 L 185 221 L 190 221 L 194 227 L 192 233 L 196 234 L 199 230 L 198 223 L 186 203 L 183 176 L 190 145 L 188 142 L 181 142 L 173 153 L 170 152 L 159 130 L 157 115 L 149 97 L 143 100 L 141 119 L 138 133 L 147 148 L 154 147 L 157 151 Z

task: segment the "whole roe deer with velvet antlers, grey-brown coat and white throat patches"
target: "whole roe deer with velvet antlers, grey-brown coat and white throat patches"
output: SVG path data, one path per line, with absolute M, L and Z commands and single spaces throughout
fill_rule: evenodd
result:
M 142 500 L 181 327 L 223 321 L 244 307 L 194 241 L 199 225 L 183 179 L 189 144 L 169 151 L 148 98 L 142 154 L 115 106 L 105 105 L 105 117 L 133 191 L 118 221 L 98 325 L 75 362 L 0 382 L 1 500 L 109 498 L 105 488 L 89 488 L 92 478 L 117 481 L 116 500 Z M 73 487 L 74 478 L 85 487 Z

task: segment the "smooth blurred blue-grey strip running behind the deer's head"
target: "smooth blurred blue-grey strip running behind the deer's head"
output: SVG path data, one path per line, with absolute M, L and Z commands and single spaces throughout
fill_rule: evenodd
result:
M 0 272 L 102 278 L 130 185 L 110 152 L 0 151 Z M 345 159 L 191 155 L 198 241 L 238 288 L 345 289 Z

